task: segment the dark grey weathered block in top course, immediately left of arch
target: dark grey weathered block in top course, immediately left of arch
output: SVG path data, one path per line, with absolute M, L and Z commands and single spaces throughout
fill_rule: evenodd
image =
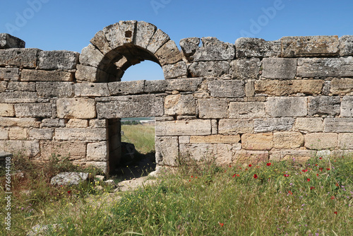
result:
M 66 50 L 42 51 L 39 55 L 38 69 L 76 69 L 79 55 L 78 52 L 69 52 Z

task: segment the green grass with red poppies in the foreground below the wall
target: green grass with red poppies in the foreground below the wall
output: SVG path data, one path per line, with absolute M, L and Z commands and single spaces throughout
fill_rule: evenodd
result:
M 87 186 L 16 195 L 12 232 L 58 224 L 48 235 L 352 235 L 352 157 L 267 164 L 184 163 L 121 199 Z

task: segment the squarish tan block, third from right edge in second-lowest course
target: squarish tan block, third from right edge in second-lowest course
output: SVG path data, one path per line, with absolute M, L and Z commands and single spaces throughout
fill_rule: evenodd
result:
M 304 136 L 300 132 L 273 133 L 273 147 L 277 149 L 300 148 L 304 145 Z

